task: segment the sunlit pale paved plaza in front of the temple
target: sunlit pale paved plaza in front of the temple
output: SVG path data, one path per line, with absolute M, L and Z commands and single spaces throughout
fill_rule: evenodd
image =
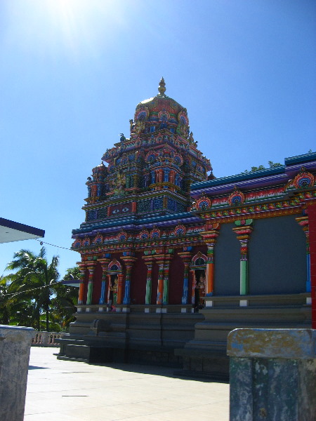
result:
M 228 421 L 229 385 L 173 375 L 172 368 L 61 361 L 32 347 L 25 421 Z

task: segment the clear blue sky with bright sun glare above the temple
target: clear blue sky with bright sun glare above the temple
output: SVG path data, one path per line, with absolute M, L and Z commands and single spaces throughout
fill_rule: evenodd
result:
M 216 177 L 315 151 L 315 1 L 1 0 L 1 213 L 64 248 L 141 100 L 187 107 Z M 0 244 L 0 275 L 13 253 Z M 60 255 L 60 272 L 79 254 Z

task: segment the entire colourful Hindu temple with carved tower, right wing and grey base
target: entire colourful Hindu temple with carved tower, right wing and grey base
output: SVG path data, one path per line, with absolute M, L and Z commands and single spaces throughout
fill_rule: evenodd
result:
M 187 109 L 163 78 L 158 91 L 86 182 L 77 320 L 58 358 L 225 377 L 233 328 L 315 321 L 316 153 L 215 178 Z

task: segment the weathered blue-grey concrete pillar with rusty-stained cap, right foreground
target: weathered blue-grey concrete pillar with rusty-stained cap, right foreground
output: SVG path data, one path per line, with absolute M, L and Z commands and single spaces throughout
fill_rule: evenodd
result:
M 232 330 L 230 421 L 314 421 L 315 341 L 312 329 Z

